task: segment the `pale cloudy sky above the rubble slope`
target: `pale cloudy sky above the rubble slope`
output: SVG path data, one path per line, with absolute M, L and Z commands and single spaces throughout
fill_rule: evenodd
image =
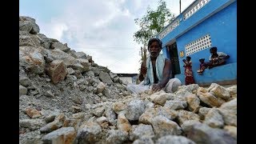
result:
M 182 0 L 185 10 L 194 0 Z M 166 0 L 177 16 L 179 0 Z M 158 0 L 19 0 L 19 15 L 36 20 L 41 34 L 58 39 L 72 49 L 92 56 L 113 73 L 138 73 L 141 45 L 134 42 L 139 30 L 135 18 Z

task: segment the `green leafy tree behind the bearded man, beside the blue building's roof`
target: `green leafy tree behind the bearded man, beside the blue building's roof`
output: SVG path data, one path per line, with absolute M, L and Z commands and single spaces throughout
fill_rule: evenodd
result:
M 146 46 L 148 40 L 163 30 L 174 18 L 174 14 L 166 8 L 166 2 L 160 0 L 157 10 L 151 10 L 148 7 L 146 15 L 134 19 L 135 23 L 140 26 L 140 30 L 134 33 L 134 41 Z

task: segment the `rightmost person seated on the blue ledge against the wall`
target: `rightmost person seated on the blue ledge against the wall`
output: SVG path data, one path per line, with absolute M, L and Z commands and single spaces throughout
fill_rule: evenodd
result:
M 215 66 L 222 66 L 226 64 L 226 59 L 230 58 L 230 55 L 223 52 L 217 52 L 217 47 L 210 48 L 210 57 L 209 57 L 209 69 Z

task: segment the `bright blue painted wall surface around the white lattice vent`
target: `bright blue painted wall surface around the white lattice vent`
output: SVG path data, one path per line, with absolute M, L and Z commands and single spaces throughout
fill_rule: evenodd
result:
M 203 75 L 198 75 L 196 72 L 199 69 L 198 59 L 205 58 L 206 62 L 208 62 L 210 48 L 190 54 L 193 62 L 192 69 L 194 71 L 194 79 L 198 84 L 205 82 L 229 81 L 237 78 L 237 2 L 234 1 L 231 4 L 229 2 L 230 1 L 224 0 L 210 1 L 190 18 L 180 22 L 180 25 L 170 32 L 170 34 L 167 34 L 165 38 L 162 38 L 163 46 L 166 46 L 167 42 L 176 38 L 179 54 L 182 50 L 186 52 L 186 44 L 193 42 L 206 34 L 210 34 L 212 45 L 217 46 L 218 51 L 230 55 L 225 66 L 214 67 L 211 70 L 205 70 Z M 223 7 L 225 8 L 222 9 Z M 181 17 L 182 15 L 178 16 L 178 18 Z M 192 29 L 190 29 L 191 27 Z M 165 53 L 166 50 L 164 48 L 163 55 L 170 58 L 170 56 Z M 183 58 L 186 58 L 186 56 Z M 179 78 L 184 84 L 185 75 L 182 62 L 183 58 L 179 57 L 182 73 L 175 75 L 175 77 Z

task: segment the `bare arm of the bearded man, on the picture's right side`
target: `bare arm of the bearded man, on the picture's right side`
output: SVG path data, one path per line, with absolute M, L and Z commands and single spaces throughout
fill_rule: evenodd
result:
M 162 81 L 152 87 L 153 91 L 162 90 L 162 88 L 166 86 L 167 82 L 169 82 L 169 78 L 171 78 L 170 70 L 171 70 L 170 59 L 166 59 L 165 66 L 162 71 Z

